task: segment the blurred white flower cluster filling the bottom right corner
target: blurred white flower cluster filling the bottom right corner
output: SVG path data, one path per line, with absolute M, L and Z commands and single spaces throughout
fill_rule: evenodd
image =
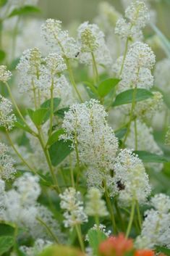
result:
M 170 248 L 170 198 L 165 194 L 157 194 L 150 203 L 155 209 L 145 212 L 145 220 L 141 234 L 136 239 L 136 246 Z

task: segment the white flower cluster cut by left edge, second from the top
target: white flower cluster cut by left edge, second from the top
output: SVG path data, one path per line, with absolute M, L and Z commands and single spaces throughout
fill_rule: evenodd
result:
M 16 117 L 12 113 L 12 103 L 0 95 L 0 126 L 11 130 L 14 127 L 15 121 Z

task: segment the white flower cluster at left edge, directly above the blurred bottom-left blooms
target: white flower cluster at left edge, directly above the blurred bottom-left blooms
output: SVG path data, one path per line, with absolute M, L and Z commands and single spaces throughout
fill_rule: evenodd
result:
M 14 178 L 14 173 L 16 172 L 14 160 L 9 156 L 8 152 L 8 146 L 0 143 L 0 178 L 4 180 Z

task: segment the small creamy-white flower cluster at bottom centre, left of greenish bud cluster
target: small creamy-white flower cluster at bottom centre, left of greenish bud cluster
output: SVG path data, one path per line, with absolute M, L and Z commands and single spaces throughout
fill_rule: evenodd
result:
M 74 188 L 66 189 L 63 194 L 59 194 L 61 198 L 60 207 L 64 209 L 64 226 L 66 228 L 73 228 L 78 224 L 88 221 L 85 214 L 81 194 Z

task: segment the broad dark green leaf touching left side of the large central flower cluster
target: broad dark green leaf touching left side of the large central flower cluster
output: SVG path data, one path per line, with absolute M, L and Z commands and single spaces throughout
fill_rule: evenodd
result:
M 51 162 L 54 166 L 59 165 L 71 152 L 72 152 L 72 141 L 56 141 L 49 148 L 49 154 Z

